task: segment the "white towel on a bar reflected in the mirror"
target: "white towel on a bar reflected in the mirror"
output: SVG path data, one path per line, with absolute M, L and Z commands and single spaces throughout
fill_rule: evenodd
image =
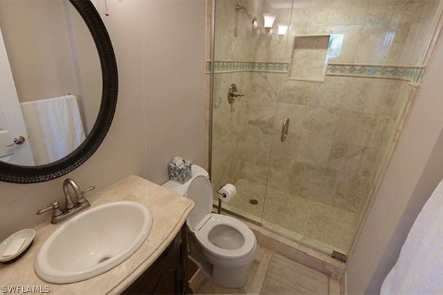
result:
M 74 95 L 23 102 L 20 106 L 36 165 L 59 160 L 83 142 L 83 124 Z

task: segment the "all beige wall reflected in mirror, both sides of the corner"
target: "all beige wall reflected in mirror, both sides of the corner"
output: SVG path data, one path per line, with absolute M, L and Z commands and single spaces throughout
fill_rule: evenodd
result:
M 19 101 L 71 93 L 89 133 L 100 108 L 100 60 L 77 10 L 68 1 L 0 1 L 0 26 Z

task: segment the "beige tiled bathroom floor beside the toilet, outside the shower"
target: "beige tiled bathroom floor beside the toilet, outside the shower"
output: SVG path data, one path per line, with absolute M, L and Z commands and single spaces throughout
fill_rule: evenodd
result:
M 249 265 L 246 285 L 232 289 L 204 278 L 195 294 L 340 294 L 338 281 L 275 252 L 259 247 Z

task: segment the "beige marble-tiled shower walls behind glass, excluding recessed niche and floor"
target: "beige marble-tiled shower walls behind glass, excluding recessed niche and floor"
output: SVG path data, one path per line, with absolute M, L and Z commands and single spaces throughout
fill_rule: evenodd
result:
M 441 3 L 294 0 L 291 8 L 290 2 L 216 1 L 214 187 L 239 178 L 267 181 L 274 189 L 361 213 L 394 140 L 410 81 L 419 82 Z M 257 16 L 259 26 L 263 12 L 277 15 L 275 23 L 291 19 L 289 34 L 253 30 L 246 14 L 235 11 L 237 3 Z M 323 34 L 343 34 L 341 55 L 329 59 L 340 70 L 328 68 L 324 82 L 289 79 L 294 36 Z M 363 73 L 353 65 L 382 67 Z M 402 67 L 415 67 L 416 79 L 406 81 Z M 232 105 L 230 83 L 246 95 Z M 289 136 L 280 142 L 285 117 L 291 118 Z

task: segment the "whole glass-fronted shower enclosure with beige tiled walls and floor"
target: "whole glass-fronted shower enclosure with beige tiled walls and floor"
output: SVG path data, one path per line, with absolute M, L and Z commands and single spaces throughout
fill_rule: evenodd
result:
M 224 209 L 347 255 L 419 87 L 442 3 L 213 5 L 211 178 L 215 190 L 238 191 Z M 244 94 L 232 103 L 231 84 Z

